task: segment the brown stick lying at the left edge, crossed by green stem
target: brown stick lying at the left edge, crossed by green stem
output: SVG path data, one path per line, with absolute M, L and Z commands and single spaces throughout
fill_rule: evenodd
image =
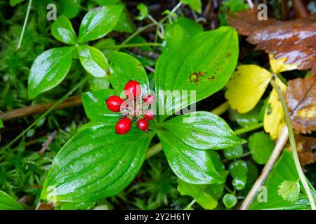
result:
M 33 106 L 25 106 L 23 108 L 19 109 L 14 109 L 12 111 L 6 111 L 4 113 L 0 113 L 0 119 L 3 121 L 6 120 L 12 120 L 15 118 L 24 118 L 27 116 L 32 116 L 36 113 L 43 113 L 47 111 L 48 109 L 53 106 L 55 102 L 51 102 L 48 104 L 37 104 Z M 73 96 L 73 97 L 68 97 L 65 99 L 64 102 L 62 102 L 60 105 L 56 106 L 55 110 L 59 109 L 64 109 L 67 107 L 72 107 L 72 106 L 79 106 L 81 105 L 81 96 Z

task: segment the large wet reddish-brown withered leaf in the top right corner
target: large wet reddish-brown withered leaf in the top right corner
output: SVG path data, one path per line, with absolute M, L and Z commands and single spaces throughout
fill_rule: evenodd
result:
M 228 22 L 256 50 L 265 50 L 274 58 L 286 58 L 287 64 L 298 64 L 298 69 L 312 69 L 316 74 L 316 15 L 289 21 L 268 18 L 259 21 L 256 11 L 242 11 L 229 15 Z

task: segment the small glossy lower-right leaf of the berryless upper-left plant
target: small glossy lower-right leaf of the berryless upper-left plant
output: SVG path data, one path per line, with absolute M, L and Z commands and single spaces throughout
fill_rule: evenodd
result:
M 78 45 L 77 51 L 84 69 L 92 76 L 105 77 L 110 66 L 103 52 L 88 45 Z

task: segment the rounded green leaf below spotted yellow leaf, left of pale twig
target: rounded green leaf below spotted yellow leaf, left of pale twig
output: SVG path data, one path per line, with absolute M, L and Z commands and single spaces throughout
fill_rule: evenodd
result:
M 265 132 L 256 132 L 249 137 L 249 149 L 252 158 L 261 165 L 268 162 L 270 155 L 275 148 L 275 141 L 270 139 Z

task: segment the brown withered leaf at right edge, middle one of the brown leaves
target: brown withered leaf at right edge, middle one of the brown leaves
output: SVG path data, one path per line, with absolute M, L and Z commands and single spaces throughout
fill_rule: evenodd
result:
M 316 76 L 289 80 L 287 107 L 296 131 L 311 133 L 316 130 Z

